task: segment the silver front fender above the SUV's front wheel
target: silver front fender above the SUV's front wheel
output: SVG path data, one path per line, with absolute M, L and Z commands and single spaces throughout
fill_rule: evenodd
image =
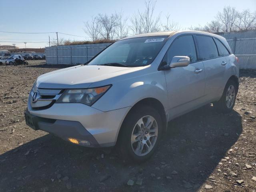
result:
M 112 87 L 92 107 L 101 111 L 132 107 L 145 98 L 159 100 L 168 109 L 168 94 L 164 72 L 157 71 L 144 76 L 121 80 Z

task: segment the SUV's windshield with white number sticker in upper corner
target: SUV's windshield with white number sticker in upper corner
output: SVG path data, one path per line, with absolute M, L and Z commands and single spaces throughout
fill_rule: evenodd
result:
M 138 67 L 151 64 L 168 36 L 148 36 L 120 40 L 89 62 L 88 65 Z

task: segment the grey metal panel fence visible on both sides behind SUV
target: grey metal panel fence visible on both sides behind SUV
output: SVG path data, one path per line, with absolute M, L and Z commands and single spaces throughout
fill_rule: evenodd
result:
M 256 69 L 256 30 L 219 33 L 239 58 L 241 69 Z M 52 46 L 45 48 L 46 64 L 83 64 L 110 43 Z

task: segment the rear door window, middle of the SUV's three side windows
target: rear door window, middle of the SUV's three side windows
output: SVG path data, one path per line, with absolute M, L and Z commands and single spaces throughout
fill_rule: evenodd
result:
M 196 35 L 200 60 L 218 57 L 218 50 L 212 37 Z

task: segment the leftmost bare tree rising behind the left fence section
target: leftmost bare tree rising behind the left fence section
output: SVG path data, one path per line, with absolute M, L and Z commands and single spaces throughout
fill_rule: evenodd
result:
M 84 32 L 92 39 L 92 41 L 99 39 L 100 28 L 97 16 L 92 16 L 90 21 L 84 22 L 84 26 Z

